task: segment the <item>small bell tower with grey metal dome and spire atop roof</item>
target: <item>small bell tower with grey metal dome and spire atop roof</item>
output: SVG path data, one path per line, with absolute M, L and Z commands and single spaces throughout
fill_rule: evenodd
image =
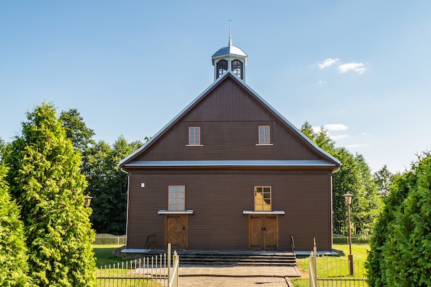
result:
M 214 81 L 217 80 L 224 72 L 232 71 L 245 82 L 245 66 L 247 65 L 247 54 L 239 47 L 232 45 L 231 24 L 229 22 L 229 43 L 221 47 L 211 57 L 214 66 Z

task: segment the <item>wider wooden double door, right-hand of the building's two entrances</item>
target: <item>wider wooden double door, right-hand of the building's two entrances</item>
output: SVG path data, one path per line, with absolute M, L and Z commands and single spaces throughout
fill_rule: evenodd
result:
M 278 215 L 249 215 L 249 249 L 278 250 Z

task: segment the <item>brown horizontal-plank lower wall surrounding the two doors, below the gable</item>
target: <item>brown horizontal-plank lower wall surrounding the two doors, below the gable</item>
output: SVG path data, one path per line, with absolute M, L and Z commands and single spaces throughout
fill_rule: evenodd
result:
M 145 188 L 140 183 L 145 182 Z M 330 171 L 141 171 L 130 178 L 127 248 L 143 248 L 148 235 L 156 234 L 154 248 L 165 248 L 167 187 L 185 185 L 189 215 L 189 249 L 247 250 L 248 216 L 253 210 L 254 186 L 272 187 L 273 210 L 279 216 L 281 251 L 332 247 Z

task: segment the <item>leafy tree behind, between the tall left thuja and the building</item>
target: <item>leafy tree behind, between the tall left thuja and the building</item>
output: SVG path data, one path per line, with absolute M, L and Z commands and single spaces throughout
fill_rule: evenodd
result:
M 118 169 L 118 162 L 141 145 L 120 136 L 112 147 L 100 141 L 85 152 L 83 172 L 89 182 L 85 192 L 93 197 L 91 219 L 96 233 L 125 234 L 127 173 Z

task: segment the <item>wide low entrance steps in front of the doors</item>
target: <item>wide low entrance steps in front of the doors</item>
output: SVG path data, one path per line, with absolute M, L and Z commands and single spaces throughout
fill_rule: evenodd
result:
M 180 266 L 296 266 L 294 253 L 277 251 L 177 251 Z

